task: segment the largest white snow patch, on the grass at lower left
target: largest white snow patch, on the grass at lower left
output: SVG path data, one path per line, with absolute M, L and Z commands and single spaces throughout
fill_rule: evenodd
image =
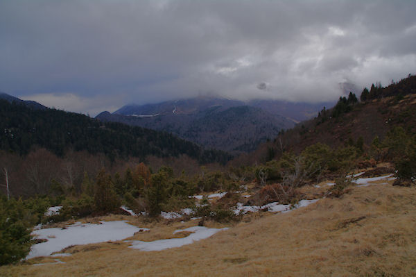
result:
M 109 240 L 124 240 L 139 230 L 148 230 L 127 224 L 125 221 L 101 221 L 101 224 L 73 224 L 66 228 L 34 230 L 32 235 L 47 242 L 34 244 L 26 259 L 51 255 L 76 244 L 92 244 Z

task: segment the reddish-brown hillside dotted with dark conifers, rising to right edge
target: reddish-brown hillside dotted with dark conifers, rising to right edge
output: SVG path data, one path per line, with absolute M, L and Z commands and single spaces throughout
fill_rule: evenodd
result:
M 268 149 L 299 153 L 316 143 L 332 147 L 343 146 L 363 138 L 370 146 L 374 137 L 383 140 L 385 134 L 396 126 L 409 134 L 416 134 L 416 76 L 409 76 L 388 87 L 372 86 L 363 90 L 361 102 L 347 103 L 340 99 L 334 108 L 322 110 L 318 117 L 302 121 L 295 128 L 278 137 L 275 142 L 259 146 L 253 157 L 265 157 Z

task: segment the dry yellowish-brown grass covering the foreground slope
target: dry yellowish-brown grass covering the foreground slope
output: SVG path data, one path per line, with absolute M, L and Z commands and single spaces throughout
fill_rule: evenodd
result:
M 148 223 L 150 232 L 137 239 L 169 237 L 192 224 Z M 142 252 L 125 242 L 77 246 L 78 252 L 60 258 L 66 264 L 6 266 L 0 275 L 416 276 L 415 242 L 415 187 L 370 185 L 285 214 L 251 216 L 177 249 Z

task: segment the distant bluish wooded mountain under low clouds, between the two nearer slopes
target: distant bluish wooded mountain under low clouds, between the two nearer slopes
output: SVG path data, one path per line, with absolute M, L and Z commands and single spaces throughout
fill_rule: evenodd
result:
M 144 106 L 128 105 L 101 121 L 116 121 L 166 131 L 207 148 L 233 153 L 252 151 L 294 122 L 241 101 L 198 97 Z

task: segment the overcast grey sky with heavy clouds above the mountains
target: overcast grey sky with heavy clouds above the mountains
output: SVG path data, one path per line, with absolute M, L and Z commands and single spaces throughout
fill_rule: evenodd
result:
M 416 73 L 416 1 L 0 0 L 0 91 L 94 116 L 215 94 L 329 101 Z

